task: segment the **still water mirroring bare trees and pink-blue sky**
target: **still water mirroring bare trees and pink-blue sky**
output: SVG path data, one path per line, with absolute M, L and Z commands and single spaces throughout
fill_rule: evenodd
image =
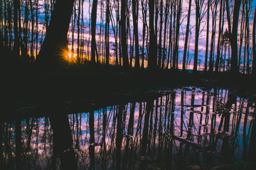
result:
M 188 87 L 88 109 L 1 122 L 1 169 L 243 169 L 255 162 L 255 101 L 233 91 Z

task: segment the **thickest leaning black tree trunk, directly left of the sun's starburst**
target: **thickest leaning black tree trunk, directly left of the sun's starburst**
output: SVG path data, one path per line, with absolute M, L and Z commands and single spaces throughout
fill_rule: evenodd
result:
M 67 35 L 74 1 L 55 1 L 46 38 L 38 56 L 38 62 L 44 67 L 56 67 L 64 62 L 68 52 Z

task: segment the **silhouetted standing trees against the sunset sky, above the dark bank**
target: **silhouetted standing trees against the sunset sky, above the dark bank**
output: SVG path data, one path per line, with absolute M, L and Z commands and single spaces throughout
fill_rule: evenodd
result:
M 3 0 L 0 21 L 9 64 L 256 72 L 255 1 Z

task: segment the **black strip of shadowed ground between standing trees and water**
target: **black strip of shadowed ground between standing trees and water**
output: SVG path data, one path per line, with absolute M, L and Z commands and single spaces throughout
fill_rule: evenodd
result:
M 27 69 L 2 74 L 4 112 L 56 102 L 77 101 L 76 108 L 80 105 L 90 108 L 122 101 L 144 101 L 150 96 L 188 86 L 232 89 L 238 96 L 256 101 L 255 75 L 147 72 L 116 67 L 58 71 Z

